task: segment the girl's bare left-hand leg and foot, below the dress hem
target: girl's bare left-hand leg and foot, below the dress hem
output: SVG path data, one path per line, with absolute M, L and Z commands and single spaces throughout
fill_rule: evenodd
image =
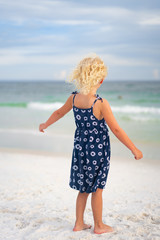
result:
M 73 231 L 80 231 L 91 228 L 91 225 L 85 224 L 83 220 L 84 210 L 89 193 L 78 193 L 76 201 L 76 222 Z

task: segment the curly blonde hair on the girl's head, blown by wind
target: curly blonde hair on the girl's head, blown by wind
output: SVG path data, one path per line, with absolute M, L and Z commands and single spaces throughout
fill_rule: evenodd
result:
M 83 58 L 69 76 L 81 93 L 87 95 L 92 88 L 107 76 L 107 67 L 96 55 Z

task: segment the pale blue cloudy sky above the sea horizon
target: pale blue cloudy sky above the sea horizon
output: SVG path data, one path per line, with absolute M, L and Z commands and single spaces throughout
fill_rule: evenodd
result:
M 160 80 L 159 0 L 0 0 L 0 80 L 66 80 L 96 53 L 108 80 Z

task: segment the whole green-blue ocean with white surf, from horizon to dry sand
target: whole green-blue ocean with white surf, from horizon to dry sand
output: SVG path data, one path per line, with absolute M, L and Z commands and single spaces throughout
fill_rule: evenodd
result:
M 38 128 L 74 90 L 62 81 L 0 82 L 0 148 L 71 154 L 72 110 L 45 133 Z M 97 93 L 108 100 L 118 124 L 144 157 L 160 159 L 160 82 L 105 80 Z M 111 130 L 110 138 L 113 155 L 129 155 Z

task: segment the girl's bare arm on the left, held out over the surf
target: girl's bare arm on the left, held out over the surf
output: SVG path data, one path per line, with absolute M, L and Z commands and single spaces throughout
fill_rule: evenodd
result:
M 54 111 L 52 115 L 48 118 L 48 120 L 45 123 L 41 123 L 39 125 L 39 131 L 44 132 L 43 129 L 47 128 L 51 124 L 55 123 L 58 121 L 60 118 L 62 118 L 66 113 L 68 113 L 72 109 L 72 100 L 73 100 L 73 95 L 71 95 L 65 104 Z

